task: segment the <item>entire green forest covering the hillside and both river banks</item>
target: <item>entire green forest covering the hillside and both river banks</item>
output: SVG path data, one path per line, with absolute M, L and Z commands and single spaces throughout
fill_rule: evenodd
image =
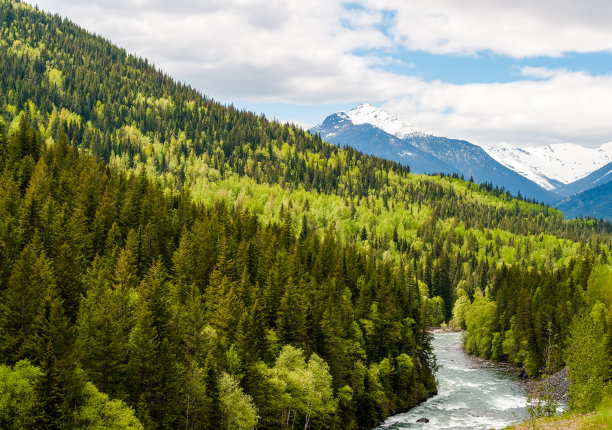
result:
M 1 428 L 372 428 L 436 391 L 443 322 L 530 377 L 569 366 L 588 411 L 611 246 L 0 0 Z

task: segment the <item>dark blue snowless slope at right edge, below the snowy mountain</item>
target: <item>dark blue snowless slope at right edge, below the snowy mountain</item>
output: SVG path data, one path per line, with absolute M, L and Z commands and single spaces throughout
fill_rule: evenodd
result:
M 590 216 L 612 221 L 612 181 L 574 194 L 557 204 L 568 218 Z

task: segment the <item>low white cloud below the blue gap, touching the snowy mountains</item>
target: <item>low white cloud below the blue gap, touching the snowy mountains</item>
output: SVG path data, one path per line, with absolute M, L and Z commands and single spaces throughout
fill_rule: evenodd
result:
M 543 81 L 423 84 L 387 103 L 421 129 L 490 145 L 610 140 L 612 76 L 558 71 Z

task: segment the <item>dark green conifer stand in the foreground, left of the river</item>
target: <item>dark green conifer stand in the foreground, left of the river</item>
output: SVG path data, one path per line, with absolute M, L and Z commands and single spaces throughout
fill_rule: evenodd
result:
M 0 353 L 44 375 L 20 423 L 89 422 L 89 382 L 164 428 L 371 426 L 434 389 L 411 267 L 41 149 L 25 115 L 2 142 Z

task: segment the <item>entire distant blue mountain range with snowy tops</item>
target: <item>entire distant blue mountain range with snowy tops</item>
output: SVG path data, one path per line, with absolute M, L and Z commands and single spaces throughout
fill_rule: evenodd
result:
M 368 103 L 329 115 L 310 130 L 339 146 L 410 166 L 413 173 L 457 173 L 513 194 L 556 204 L 567 217 L 612 220 L 612 142 L 599 148 L 576 144 L 481 148 L 465 140 L 424 133 Z M 588 194 L 586 194 L 588 192 Z

